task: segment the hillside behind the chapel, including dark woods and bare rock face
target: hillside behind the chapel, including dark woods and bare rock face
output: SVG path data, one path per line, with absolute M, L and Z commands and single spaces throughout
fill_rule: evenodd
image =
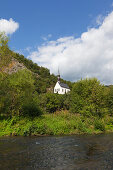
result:
M 23 55 L 15 53 L 7 49 L 7 54 L 0 57 L 0 71 L 6 74 L 14 74 L 22 69 L 31 71 L 34 75 L 34 84 L 38 93 L 46 93 L 48 90 L 53 91 L 54 85 L 57 81 L 57 76 L 50 74 L 47 68 L 40 67 L 31 60 L 25 58 Z M 61 79 L 63 83 L 67 83 L 72 88 L 70 81 Z

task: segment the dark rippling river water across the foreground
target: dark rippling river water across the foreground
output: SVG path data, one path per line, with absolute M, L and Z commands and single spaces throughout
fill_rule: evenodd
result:
M 113 170 L 113 133 L 0 138 L 0 170 Z

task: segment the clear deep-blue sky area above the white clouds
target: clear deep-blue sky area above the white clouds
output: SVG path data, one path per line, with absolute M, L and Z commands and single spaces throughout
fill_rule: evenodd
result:
M 15 50 L 35 47 L 43 43 L 42 37 L 52 35 L 55 40 L 64 36 L 79 36 L 96 17 L 110 11 L 111 0 L 4 0 L 0 5 L 0 18 L 12 18 L 19 29 L 10 38 Z

